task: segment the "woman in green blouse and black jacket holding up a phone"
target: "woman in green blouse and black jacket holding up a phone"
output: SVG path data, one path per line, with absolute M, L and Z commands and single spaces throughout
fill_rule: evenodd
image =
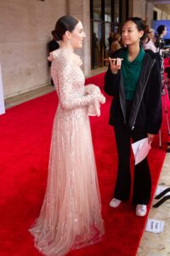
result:
M 146 26 L 139 17 L 129 18 L 122 26 L 122 48 L 111 55 L 105 73 L 106 94 L 113 96 L 110 125 L 114 126 L 118 153 L 116 186 L 111 207 L 130 199 L 130 153 L 133 143 L 147 138 L 151 144 L 161 127 L 161 72 L 154 55 L 144 52 L 140 41 Z M 151 51 L 153 54 L 153 52 Z M 134 166 L 133 205 L 143 217 L 150 202 L 151 177 L 147 157 Z

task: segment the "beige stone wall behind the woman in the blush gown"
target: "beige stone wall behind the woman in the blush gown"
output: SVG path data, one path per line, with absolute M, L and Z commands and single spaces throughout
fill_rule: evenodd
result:
M 90 69 L 89 1 L 0 1 L 0 61 L 4 97 L 48 84 L 48 41 L 60 16 L 77 15 L 85 25 L 86 43 L 80 54 Z

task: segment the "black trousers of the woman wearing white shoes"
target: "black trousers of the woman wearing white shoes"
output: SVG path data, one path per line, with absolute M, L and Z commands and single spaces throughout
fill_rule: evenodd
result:
M 117 123 L 114 126 L 116 147 L 118 153 L 118 172 L 114 197 L 121 201 L 127 201 L 131 192 L 130 154 L 131 143 L 147 137 L 145 131 L 134 129 L 130 131 L 125 125 Z M 132 140 L 131 140 L 132 138 Z M 150 201 L 151 177 L 148 160 L 145 158 L 134 166 L 133 177 L 133 204 L 147 205 Z

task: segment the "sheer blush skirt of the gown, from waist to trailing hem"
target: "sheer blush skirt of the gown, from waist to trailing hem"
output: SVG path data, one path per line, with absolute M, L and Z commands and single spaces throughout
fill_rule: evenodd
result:
M 104 234 L 86 109 L 55 116 L 46 194 L 30 231 L 37 249 L 51 256 L 94 244 Z

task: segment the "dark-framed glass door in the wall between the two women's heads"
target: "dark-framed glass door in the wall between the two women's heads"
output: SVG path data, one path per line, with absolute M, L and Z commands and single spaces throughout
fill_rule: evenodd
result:
M 108 64 L 104 61 L 109 54 L 108 38 L 111 32 L 121 32 L 127 6 L 127 0 L 90 1 L 92 68 Z

